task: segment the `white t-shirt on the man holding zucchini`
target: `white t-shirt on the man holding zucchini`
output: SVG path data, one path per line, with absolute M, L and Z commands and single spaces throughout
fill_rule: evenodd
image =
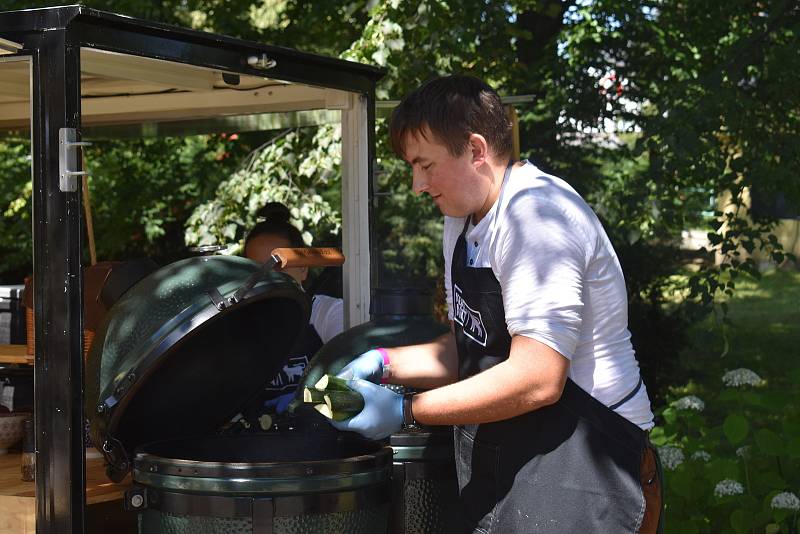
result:
M 448 315 L 450 264 L 464 218 L 445 217 Z M 511 336 L 535 339 L 570 360 L 569 377 L 611 406 L 639 381 L 619 260 L 599 219 L 565 181 L 526 163 L 515 168 L 486 216 L 467 230 L 467 263 L 490 267 L 502 288 Z M 647 389 L 615 410 L 653 427 Z

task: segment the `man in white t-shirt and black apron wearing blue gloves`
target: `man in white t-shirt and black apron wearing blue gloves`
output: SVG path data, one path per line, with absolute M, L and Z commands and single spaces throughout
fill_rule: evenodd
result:
M 596 215 L 563 180 L 511 161 L 500 98 L 476 78 L 412 92 L 390 133 L 414 191 L 445 216 L 453 331 L 356 358 L 341 375 L 365 407 L 334 425 L 373 439 L 453 425 L 464 532 L 656 532 L 653 414 Z

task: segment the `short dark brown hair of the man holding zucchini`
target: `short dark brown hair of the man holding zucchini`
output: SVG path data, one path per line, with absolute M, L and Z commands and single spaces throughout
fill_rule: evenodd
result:
M 464 153 L 473 133 L 486 138 L 495 156 L 511 156 L 511 121 L 500 95 L 474 76 L 434 78 L 406 95 L 389 122 L 392 149 L 404 158 L 407 135 L 424 137 L 426 128 L 453 156 Z

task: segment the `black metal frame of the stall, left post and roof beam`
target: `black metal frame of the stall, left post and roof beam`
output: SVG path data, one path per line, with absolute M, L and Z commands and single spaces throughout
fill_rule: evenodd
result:
M 383 71 L 81 6 L 0 13 L 0 37 L 21 43 L 19 55 L 30 56 L 33 65 L 36 531 L 79 533 L 85 526 L 82 214 L 80 193 L 59 189 L 58 132 L 81 125 L 80 48 L 268 74 L 364 95 L 370 218 L 375 83 Z M 275 67 L 265 72 L 248 65 L 248 56 L 261 54 L 276 60 Z M 374 268 L 371 276 L 374 282 Z

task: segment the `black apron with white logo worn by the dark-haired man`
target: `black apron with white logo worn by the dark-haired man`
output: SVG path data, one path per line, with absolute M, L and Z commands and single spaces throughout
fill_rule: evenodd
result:
M 469 217 L 451 266 L 462 380 L 507 359 L 511 349 L 500 283 L 491 268 L 466 265 L 468 227 Z M 505 421 L 456 426 L 454 435 L 464 532 L 639 530 L 646 433 L 571 379 L 553 405 Z

